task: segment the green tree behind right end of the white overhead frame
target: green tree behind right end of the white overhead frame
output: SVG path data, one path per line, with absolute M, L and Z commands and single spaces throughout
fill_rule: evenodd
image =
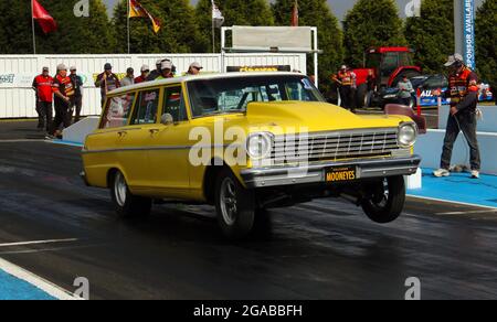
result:
M 275 23 L 289 25 L 294 0 L 276 0 L 272 6 Z M 320 89 L 328 92 L 330 87 L 330 74 L 338 69 L 343 60 L 342 33 L 338 19 L 331 13 L 326 0 L 300 0 L 299 24 L 317 26 L 318 45 L 322 50 L 319 56 Z M 308 73 L 313 69 L 311 56 L 308 56 Z

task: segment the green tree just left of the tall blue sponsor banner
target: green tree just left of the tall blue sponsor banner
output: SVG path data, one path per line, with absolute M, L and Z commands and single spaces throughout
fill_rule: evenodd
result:
M 455 51 L 454 1 L 424 0 L 421 18 L 408 18 L 404 33 L 423 72 L 443 72 L 447 56 Z

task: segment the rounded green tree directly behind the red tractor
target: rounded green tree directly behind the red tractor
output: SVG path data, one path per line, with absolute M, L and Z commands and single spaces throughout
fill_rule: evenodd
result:
M 406 43 L 393 0 L 359 0 L 347 13 L 343 29 L 346 61 L 351 66 L 362 66 L 369 47 Z

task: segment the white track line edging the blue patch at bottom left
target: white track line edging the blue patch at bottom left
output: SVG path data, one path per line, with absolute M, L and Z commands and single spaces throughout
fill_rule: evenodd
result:
M 51 297 L 59 299 L 59 300 L 81 300 L 81 298 L 72 294 L 71 292 L 64 290 L 61 287 L 57 287 L 56 285 L 17 266 L 12 262 L 9 262 L 2 258 L 0 258 L 0 269 L 4 272 L 17 277 L 18 279 L 24 280 L 29 282 L 30 285 L 41 289 L 42 291 L 45 291 Z

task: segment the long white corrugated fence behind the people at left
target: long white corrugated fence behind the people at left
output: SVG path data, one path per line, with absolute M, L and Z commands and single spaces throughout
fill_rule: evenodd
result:
M 94 77 L 103 72 L 104 64 L 110 63 L 114 73 L 125 74 L 128 67 L 139 76 L 141 65 L 155 69 L 156 61 L 170 58 L 178 68 L 178 75 L 187 72 L 192 62 L 203 65 L 205 73 L 219 73 L 226 66 L 289 65 L 292 69 L 306 73 L 305 54 L 152 54 L 152 55 L 0 55 L 0 118 L 36 117 L 34 109 L 33 78 L 47 66 L 51 75 L 56 65 L 77 67 L 84 78 L 83 115 L 101 114 L 101 92 L 94 86 Z

